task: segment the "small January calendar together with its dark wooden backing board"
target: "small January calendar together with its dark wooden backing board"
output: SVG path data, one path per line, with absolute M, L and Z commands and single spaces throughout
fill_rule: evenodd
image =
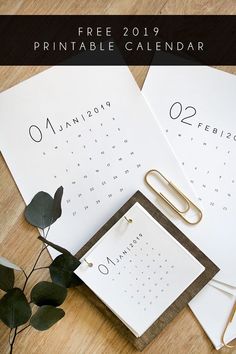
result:
M 75 272 L 93 292 L 90 301 L 116 324 L 117 316 L 118 329 L 138 349 L 219 271 L 140 191 L 76 257 Z

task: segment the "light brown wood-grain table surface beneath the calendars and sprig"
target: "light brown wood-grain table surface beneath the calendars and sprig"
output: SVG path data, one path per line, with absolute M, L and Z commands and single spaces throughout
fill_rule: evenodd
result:
M 0 0 L 0 14 L 236 14 L 235 0 Z M 46 67 L 0 67 L 0 91 L 3 91 Z M 146 67 L 130 68 L 140 87 Z M 222 67 L 236 74 L 236 67 Z M 19 118 L 20 119 L 20 118 Z M 26 270 L 32 266 L 40 248 L 37 231 L 23 218 L 24 202 L 0 155 L 0 255 Z M 45 254 L 41 265 L 50 257 Z M 49 278 L 47 270 L 35 272 L 36 280 Z M 19 276 L 17 283 L 22 284 Z M 15 353 L 21 354 L 116 354 L 138 353 L 112 324 L 84 298 L 79 289 L 69 290 L 62 306 L 66 316 L 45 332 L 27 329 L 17 338 Z M 8 329 L 0 323 L 0 353 L 8 353 Z M 216 353 L 189 308 L 144 350 L 145 354 Z M 223 348 L 220 353 L 236 353 Z

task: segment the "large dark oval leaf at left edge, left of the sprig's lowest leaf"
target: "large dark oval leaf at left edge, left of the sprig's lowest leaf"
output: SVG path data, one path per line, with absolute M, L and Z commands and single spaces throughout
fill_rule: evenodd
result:
M 10 328 L 26 323 L 31 316 L 31 308 L 21 289 L 13 288 L 0 300 L 0 320 Z

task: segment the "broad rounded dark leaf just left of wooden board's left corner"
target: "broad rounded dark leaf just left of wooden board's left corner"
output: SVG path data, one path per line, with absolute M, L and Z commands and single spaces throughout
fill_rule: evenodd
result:
M 52 281 L 66 288 L 75 286 L 78 277 L 73 272 L 79 265 L 79 260 L 74 256 L 61 254 L 49 266 Z

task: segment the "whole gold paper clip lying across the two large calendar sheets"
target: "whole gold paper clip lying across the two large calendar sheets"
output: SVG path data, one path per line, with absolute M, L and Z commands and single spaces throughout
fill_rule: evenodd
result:
M 165 182 L 167 182 L 167 184 L 181 197 L 181 199 L 183 199 L 183 201 L 186 204 L 186 207 L 184 210 L 180 210 L 178 209 L 167 197 L 164 196 L 164 194 L 162 194 L 161 192 L 158 192 L 153 185 L 149 182 L 148 177 L 150 174 L 156 174 L 159 177 L 161 177 L 162 179 L 164 179 Z M 186 223 L 190 224 L 190 225 L 196 225 L 198 224 L 201 219 L 202 219 L 202 212 L 201 210 L 184 194 L 182 193 L 171 181 L 169 181 L 160 171 L 157 170 L 150 170 L 146 173 L 145 175 L 145 182 L 147 183 L 147 185 L 159 196 L 161 197 L 168 205 L 169 207 L 171 207 L 171 209 L 173 209 Z M 197 221 L 189 221 L 186 217 L 185 214 L 190 210 L 191 206 L 193 206 L 199 217 L 197 219 Z

